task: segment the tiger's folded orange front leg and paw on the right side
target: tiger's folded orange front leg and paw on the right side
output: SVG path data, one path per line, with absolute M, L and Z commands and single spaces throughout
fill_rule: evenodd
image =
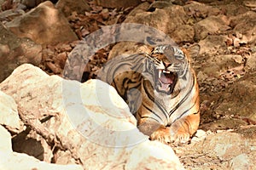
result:
M 160 140 L 163 143 L 187 143 L 189 138 L 196 132 L 199 122 L 199 113 L 184 116 L 173 122 L 171 127 L 160 126 L 151 134 L 150 139 Z

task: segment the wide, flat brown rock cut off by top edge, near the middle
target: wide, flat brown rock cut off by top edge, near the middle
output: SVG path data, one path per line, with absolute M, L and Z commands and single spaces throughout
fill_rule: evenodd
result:
M 140 0 L 96 0 L 96 4 L 105 8 L 128 8 L 128 7 L 135 7 L 139 3 Z

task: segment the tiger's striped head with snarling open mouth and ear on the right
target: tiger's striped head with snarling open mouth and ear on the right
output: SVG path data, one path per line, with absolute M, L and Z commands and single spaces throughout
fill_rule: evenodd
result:
M 148 54 L 151 63 L 151 72 L 154 75 L 154 89 L 164 94 L 174 94 L 184 88 L 183 82 L 188 78 L 190 71 L 190 54 L 198 54 L 200 47 L 181 49 L 177 46 L 161 45 L 152 49 Z M 192 54 L 192 53 L 191 53 Z M 154 69 L 152 69 L 154 68 Z

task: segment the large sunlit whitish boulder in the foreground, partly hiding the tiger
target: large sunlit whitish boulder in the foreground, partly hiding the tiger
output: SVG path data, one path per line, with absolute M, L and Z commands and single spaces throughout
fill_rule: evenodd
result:
M 15 99 L 20 119 L 34 136 L 58 148 L 51 157 L 45 153 L 46 160 L 92 169 L 183 169 L 170 146 L 138 131 L 125 101 L 105 82 L 49 77 L 25 64 L 0 89 Z

